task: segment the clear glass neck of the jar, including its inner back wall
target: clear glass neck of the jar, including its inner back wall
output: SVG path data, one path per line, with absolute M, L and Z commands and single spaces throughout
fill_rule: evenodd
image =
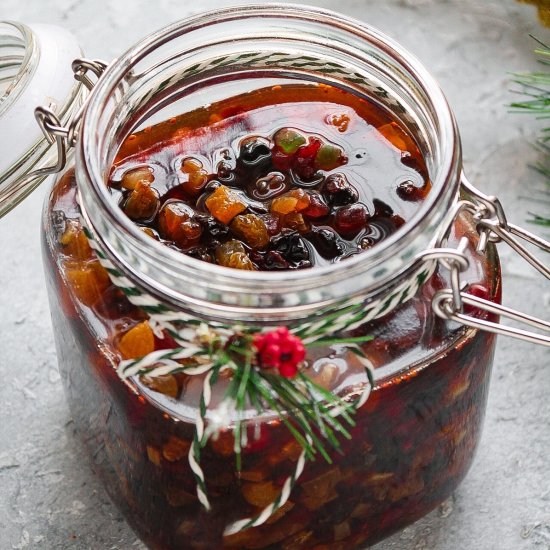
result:
M 150 239 L 112 201 L 107 178 L 136 128 L 192 110 L 213 82 L 316 81 L 373 98 L 421 147 L 432 191 L 395 234 L 345 262 L 286 272 L 208 264 Z M 231 87 L 229 86 L 228 89 Z M 220 96 L 220 94 L 222 94 Z M 156 117 L 156 118 L 155 118 Z M 378 31 L 309 7 L 262 5 L 204 14 L 154 33 L 111 65 L 94 89 L 77 145 L 77 181 L 88 225 L 113 262 L 175 307 L 228 320 L 303 319 L 342 300 L 380 296 L 418 269 L 459 185 L 460 144 L 445 98 L 410 54 Z

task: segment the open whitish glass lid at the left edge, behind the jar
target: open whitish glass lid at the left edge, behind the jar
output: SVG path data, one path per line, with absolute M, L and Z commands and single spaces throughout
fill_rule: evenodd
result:
M 44 106 L 65 121 L 79 108 L 85 91 L 71 63 L 81 56 L 76 38 L 60 27 L 0 21 L 0 217 L 46 177 L 29 172 L 56 163 L 55 144 L 34 111 Z

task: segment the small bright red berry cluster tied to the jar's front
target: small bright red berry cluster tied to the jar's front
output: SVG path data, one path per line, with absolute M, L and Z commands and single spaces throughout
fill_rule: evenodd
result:
M 306 357 L 304 344 L 286 327 L 254 336 L 258 361 L 263 368 L 276 368 L 285 378 L 293 378 Z

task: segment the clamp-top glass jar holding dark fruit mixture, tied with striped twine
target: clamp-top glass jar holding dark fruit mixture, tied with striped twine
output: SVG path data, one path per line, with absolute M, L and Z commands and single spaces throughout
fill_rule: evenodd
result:
M 381 243 L 325 267 L 237 271 L 163 246 L 113 202 L 107 180 L 132 133 L 304 82 L 390 112 L 422 153 L 431 191 Z M 63 146 L 67 132 L 49 122 Z M 496 314 L 511 313 L 498 306 L 493 241 L 516 244 L 515 233 L 548 245 L 464 181 L 452 114 L 420 64 L 333 13 L 232 8 L 131 49 L 101 74 L 79 122 L 75 163 L 44 211 L 52 317 L 76 424 L 140 536 L 154 548 L 359 548 L 444 500 L 479 440 L 495 343 L 480 327 L 504 331 Z M 308 403 L 355 412 L 349 440 L 336 427 L 342 411 L 323 423 L 324 409 L 300 409 L 309 386 L 292 394 L 301 415 L 277 409 L 275 385 L 257 407 L 227 407 L 232 380 L 261 365 L 229 352 L 216 362 L 220 346 L 242 351 L 250 335 L 281 326 L 320 343 L 304 372 L 326 393 Z M 306 461 L 331 429 L 341 452 Z

